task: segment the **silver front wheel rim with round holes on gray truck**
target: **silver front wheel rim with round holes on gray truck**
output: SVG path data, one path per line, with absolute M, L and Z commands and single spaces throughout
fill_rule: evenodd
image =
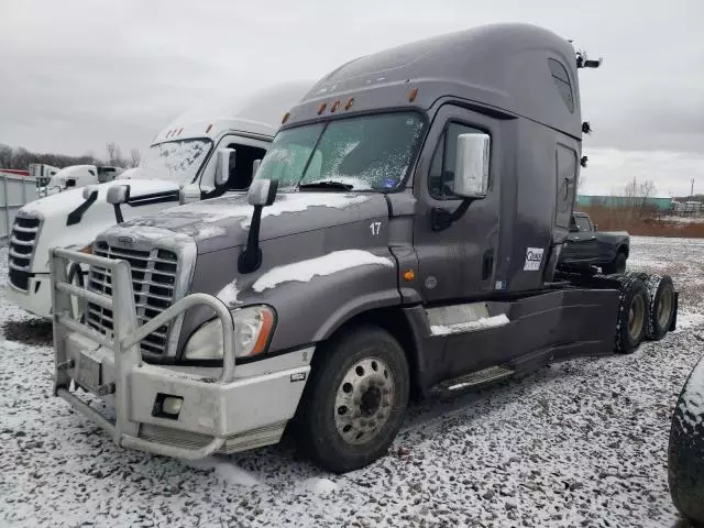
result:
M 336 395 L 338 433 L 351 444 L 374 439 L 391 418 L 394 395 L 394 376 L 384 360 L 358 361 L 345 373 Z

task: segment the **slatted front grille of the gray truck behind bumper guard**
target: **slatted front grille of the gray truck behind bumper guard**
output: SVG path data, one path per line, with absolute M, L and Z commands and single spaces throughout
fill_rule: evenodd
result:
M 114 248 L 107 242 L 96 242 L 94 253 L 108 258 L 121 258 L 132 268 L 132 288 L 140 324 L 153 319 L 168 308 L 174 300 L 178 255 L 169 250 L 151 251 Z M 112 295 L 110 272 L 92 266 L 88 276 L 88 289 Z M 112 311 L 88 302 L 86 322 L 99 332 L 112 338 Z M 164 355 L 168 343 L 169 324 L 150 333 L 140 344 L 142 352 Z

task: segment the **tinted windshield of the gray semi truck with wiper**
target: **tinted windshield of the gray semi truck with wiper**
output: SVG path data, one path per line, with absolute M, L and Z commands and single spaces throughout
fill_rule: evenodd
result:
M 277 179 L 284 190 L 316 184 L 394 189 L 408 172 L 424 127 L 419 113 L 395 112 L 285 130 L 274 139 L 256 178 Z

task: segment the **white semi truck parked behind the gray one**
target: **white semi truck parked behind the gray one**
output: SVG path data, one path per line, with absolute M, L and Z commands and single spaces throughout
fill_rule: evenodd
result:
M 50 318 L 50 248 L 89 251 L 96 235 L 119 221 L 179 201 L 246 190 L 254 162 L 266 153 L 282 114 L 311 85 L 277 85 L 235 108 L 221 106 L 222 113 L 184 114 L 154 138 L 138 168 L 125 170 L 113 182 L 65 190 L 24 206 L 9 238 L 9 299 L 31 314 Z M 125 183 L 125 204 L 108 204 L 108 189 Z

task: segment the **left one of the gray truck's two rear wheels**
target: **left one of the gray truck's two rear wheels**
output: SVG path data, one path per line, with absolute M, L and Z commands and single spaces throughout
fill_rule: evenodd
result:
M 615 351 L 630 354 L 646 337 L 650 312 L 650 298 L 645 283 L 637 276 L 620 279 L 618 315 L 616 319 Z

